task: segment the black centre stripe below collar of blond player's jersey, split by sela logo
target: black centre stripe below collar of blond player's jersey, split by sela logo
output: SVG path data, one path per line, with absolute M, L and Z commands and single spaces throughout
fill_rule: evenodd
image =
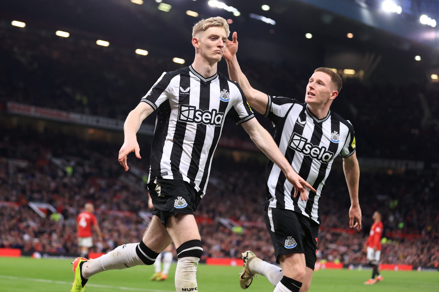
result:
M 219 95 L 218 95 L 219 96 Z M 218 97 L 219 98 L 219 97 Z M 209 110 L 210 104 L 210 82 L 209 84 L 200 83 L 200 104 L 198 109 L 202 111 Z M 204 140 L 206 138 L 207 125 L 204 123 L 197 124 L 197 132 L 195 133 L 194 144 L 192 147 L 191 164 L 187 170 L 187 177 L 191 179 L 191 186 L 195 186 L 194 180 L 200 165 L 201 152 L 203 151 Z M 204 171 L 206 171 L 204 169 Z

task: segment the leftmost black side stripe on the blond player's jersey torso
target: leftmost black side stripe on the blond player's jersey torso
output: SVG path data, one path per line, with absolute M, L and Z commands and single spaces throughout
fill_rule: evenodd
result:
M 171 106 L 169 101 L 163 102 L 157 110 L 156 125 L 154 130 L 154 139 L 151 144 L 151 177 L 150 183 L 156 177 L 160 177 L 160 161 L 163 156 L 163 146 L 165 145 L 166 135 L 168 134 L 169 116 L 171 115 Z M 157 150 L 157 151 L 154 151 Z

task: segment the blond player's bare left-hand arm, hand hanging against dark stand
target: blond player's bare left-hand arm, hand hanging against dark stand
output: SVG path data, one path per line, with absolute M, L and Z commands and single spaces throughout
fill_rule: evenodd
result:
M 146 102 L 140 102 L 135 109 L 133 109 L 126 117 L 123 125 L 123 134 L 125 136 L 122 147 L 119 150 L 119 163 L 123 166 L 125 171 L 130 169 L 126 164 L 126 157 L 131 152 L 136 153 L 137 158 L 140 157 L 140 148 L 137 143 L 136 133 L 142 124 L 142 121 L 149 116 L 154 109 Z

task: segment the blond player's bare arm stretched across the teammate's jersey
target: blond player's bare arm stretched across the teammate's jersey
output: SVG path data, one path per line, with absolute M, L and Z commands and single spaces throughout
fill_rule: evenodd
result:
M 248 133 L 252 141 L 261 149 L 268 158 L 271 159 L 277 166 L 284 172 L 285 178 L 294 186 L 294 197 L 297 196 L 298 190 L 300 191 L 300 198 L 302 201 L 306 201 L 306 188 L 309 188 L 313 192 L 313 186 L 302 179 L 288 163 L 287 158 L 282 155 L 282 152 L 277 148 L 276 143 L 271 137 L 270 133 L 262 127 L 258 121 L 253 118 L 241 124 L 244 130 Z

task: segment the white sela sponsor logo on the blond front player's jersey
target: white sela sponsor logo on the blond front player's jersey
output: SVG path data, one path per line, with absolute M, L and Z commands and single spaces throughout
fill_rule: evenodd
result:
M 220 127 L 223 124 L 224 113 L 218 113 L 217 109 L 203 111 L 196 106 L 180 105 L 178 120 L 184 123 L 202 123 Z

